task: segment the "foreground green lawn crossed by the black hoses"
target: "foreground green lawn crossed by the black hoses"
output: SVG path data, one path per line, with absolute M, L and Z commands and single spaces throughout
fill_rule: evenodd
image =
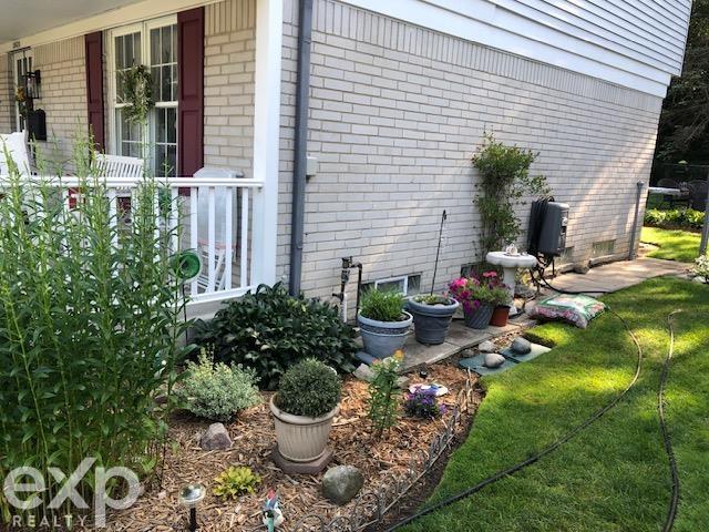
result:
M 636 388 L 555 453 L 403 530 L 656 532 L 671 494 L 657 390 L 677 308 L 667 420 L 680 474 L 677 532 L 709 530 L 709 287 L 653 279 L 605 298 L 645 351 Z M 524 460 L 607 403 L 633 378 L 636 349 L 606 314 L 582 330 L 533 329 L 556 347 L 504 375 L 483 379 L 487 395 L 470 437 L 452 456 L 431 501 Z

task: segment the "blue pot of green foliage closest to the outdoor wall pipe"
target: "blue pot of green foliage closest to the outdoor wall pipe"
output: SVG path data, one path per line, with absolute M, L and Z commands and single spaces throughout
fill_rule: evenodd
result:
M 362 295 L 357 315 L 364 350 L 386 358 L 403 347 L 413 317 L 403 309 L 405 298 L 394 290 L 371 289 Z

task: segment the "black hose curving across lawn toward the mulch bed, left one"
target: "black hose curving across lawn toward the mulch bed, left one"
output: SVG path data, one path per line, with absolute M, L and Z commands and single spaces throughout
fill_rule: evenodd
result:
M 526 468 L 527 466 L 532 466 L 533 463 L 537 462 L 541 458 L 544 458 L 545 456 L 551 454 L 552 452 L 554 452 L 556 449 L 562 447 L 564 443 L 566 443 L 573 437 L 575 437 L 578 432 L 580 432 L 582 430 L 584 430 L 587 427 L 589 427 L 592 423 L 594 423 L 596 420 L 598 420 L 604 413 L 606 413 L 608 410 L 610 410 L 616 405 L 618 405 L 618 402 L 637 383 L 638 378 L 640 377 L 640 370 L 641 370 L 641 367 L 643 367 L 643 347 L 640 346 L 640 342 L 638 341 L 637 337 L 635 336 L 635 334 L 633 332 L 633 330 L 628 326 L 627 321 L 619 314 L 617 314 L 615 310 L 613 310 L 610 308 L 608 310 L 610 311 L 610 314 L 613 314 L 614 316 L 616 316 L 620 320 L 620 323 L 623 324 L 625 329 L 630 335 L 630 338 L 633 339 L 633 342 L 635 344 L 635 346 L 637 348 L 637 351 L 638 351 L 637 367 L 636 367 L 636 370 L 635 370 L 635 375 L 633 376 L 633 380 L 630 380 L 630 383 L 619 395 L 617 395 L 606 406 L 604 406 L 604 407 L 599 408 L 598 410 L 596 410 L 584 422 L 582 422 L 580 424 L 574 427 L 572 430 L 569 430 L 562 438 L 559 438 L 558 440 L 554 441 L 549 446 L 545 447 L 544 449 L 542 449 L 541 451 L 538 451 L 534 456 L 527 458 L 526 460 L 523 460 L 522 462 L 515 463 L 514 466 L 511 466 L 507 469 L 503 469 L 501 471 L 497 471 L 495 474 L 493 474 L 491 477 L 487 477 L 485 480 L 483 480 L 482 482 L 473 485 L 472 488 L 469 488 L 469 489 L 466 489 L 464 491 L 461 491 L 460 493 L 456 493 L 456 494 L 451 495 L 451 497 L 449 497 L 446 499 L 443 499 L 442 501 L 435 503 L 432 507 L 429 507 L 427 509 L 420 510 L 419 512 L 414 513 L 413 515 L 410 515 L 410 516 L 408 516 L 408 518 L 394 523 L 392 526 L 388 528 L 386 530 L 386 532 L 392 532 L 394 530 L 398 530 L 401 526 L 404 526 L 404 525 L 407 525 L 409 523 L 412 523 L 413 521 L 415 521 L 415 520 L 418 520 L 418 519 L 420 519 L 420 518 L 422 518 L 424 515 L 428 515 L 428 514 L 430 514 L 432 512 L 435 512 L 436 510 L 440 510 L 440 509 L 442 509 L 444 507 L 453 504 L 454 502 L 458 502 L 458 501 L 460 501 L 462 499 L 465 499 L 465 498 L 467 498 L 467 497 L 470 497 L 470 495 L 472 495 L 474 493 L 477 493 L 479 491 L 481 491 L 485 487 L 487 487 L 490 484 L 493 484 L 493 483 L 497 482 L 499 480 L 504 479 L 505 477 L 514 474 L 517 471 Z

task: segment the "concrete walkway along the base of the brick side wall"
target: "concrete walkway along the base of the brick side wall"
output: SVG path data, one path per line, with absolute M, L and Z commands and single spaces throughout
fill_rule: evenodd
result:
M 682 276 L 691 265 L 661 260 L 658 258 L 636 258 L 596 266 L 587 274 L 562 274 L 551 282 L 555 288 L 574 291 L 588 291 L 589 296 L 598 296 L 595 290 L 616 291 L 638 285 L 646 279 L 662 275 Z M 548 291 L 551 294 L 551 291 Z M 526 315 L 510 320 L 506 327 L 487 327 L 475 330 L 465 327 L 461 319 L 454 319 L 446 341 L 440 346 L 424 346 L 417 342 L 411 334 L 404 346 L 404 371 L 423 365 L 430 365 L 458 355 L 464 349 L 477 346 L 484 340 L 494 339 L 510 332 L 520 335 L 535 325 Z

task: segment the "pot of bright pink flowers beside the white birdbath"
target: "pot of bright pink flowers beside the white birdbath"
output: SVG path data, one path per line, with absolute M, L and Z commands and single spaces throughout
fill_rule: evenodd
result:
M 501 303 L 502 289 L 504 285 L 496 272 L 485 272 L 482 278 L 461 277 L 450 284 L 451 296 L 463 306 L 465 325 L 473 329 L 490 325 L 495 306 Z

